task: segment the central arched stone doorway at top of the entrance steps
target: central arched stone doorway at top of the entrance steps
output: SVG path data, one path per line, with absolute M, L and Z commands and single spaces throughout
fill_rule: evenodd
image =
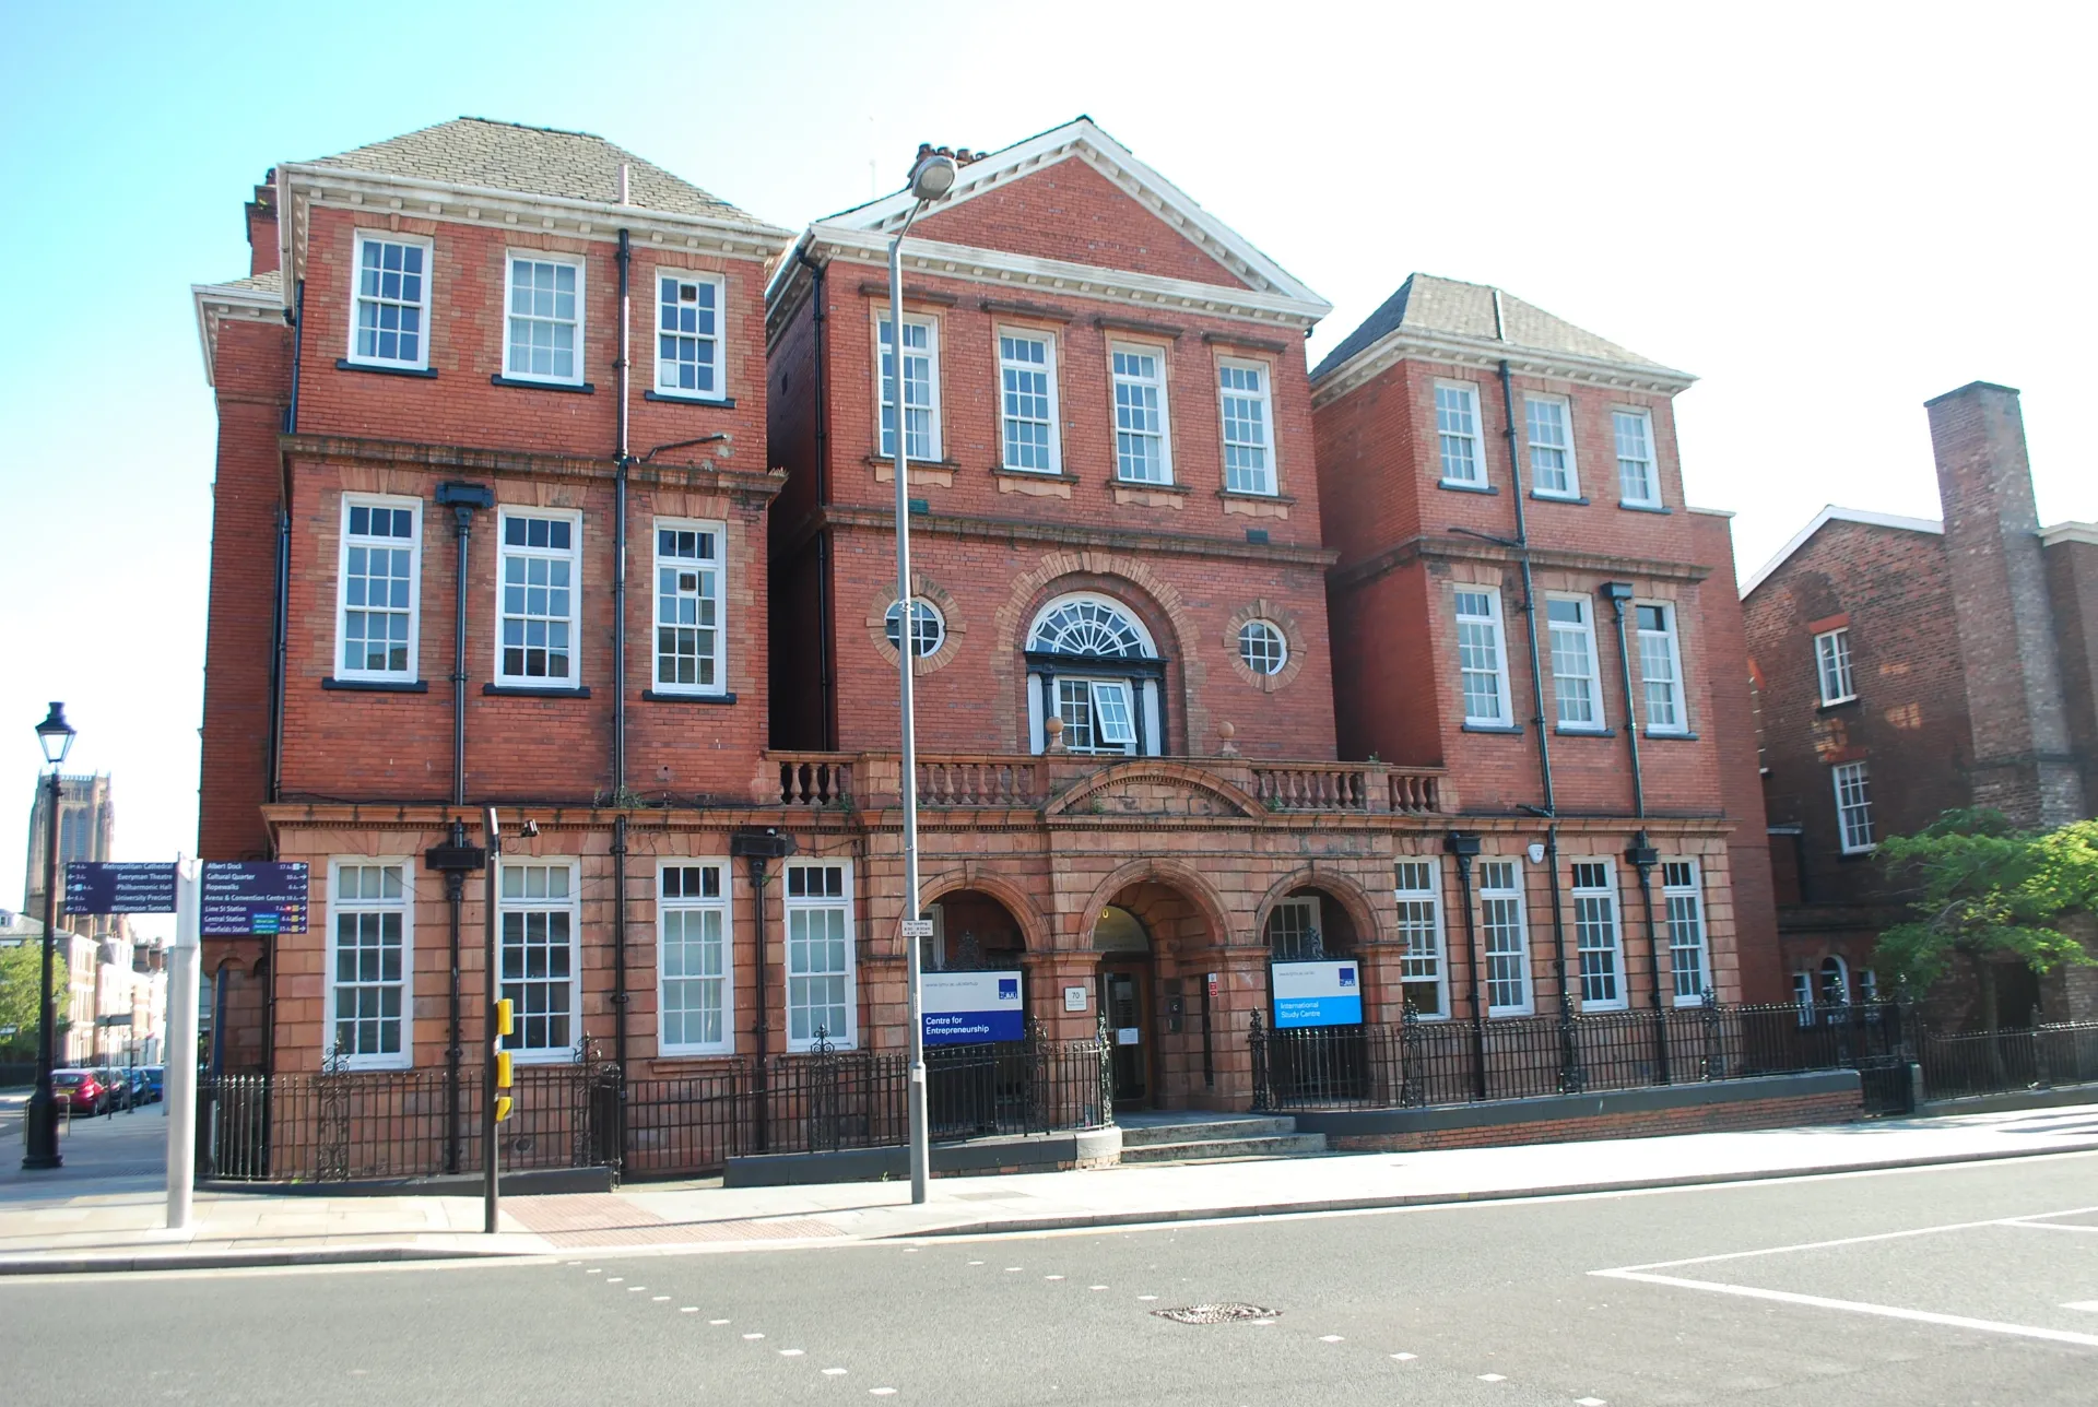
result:
M 1204 904 L 1166 879 L 1137 879 L 1108 895 L 1091 948 L 1095 1000 L 1114 1044 L 1118 1109 L 1187 1109 L 1213 1101 L 1217 946 Z

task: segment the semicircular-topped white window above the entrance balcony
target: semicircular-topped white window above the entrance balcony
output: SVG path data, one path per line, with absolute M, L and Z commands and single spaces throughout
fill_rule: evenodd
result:
M 1028 629 L 1028 738 L 1064 719 L 1072 753 L 1164 753 L 1164 661 L 1133 610 L 1108 596 L 1059 596 Z

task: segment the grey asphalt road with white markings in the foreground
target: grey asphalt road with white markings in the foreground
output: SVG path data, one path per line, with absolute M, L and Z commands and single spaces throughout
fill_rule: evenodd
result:
M 1276 1313 L 1154 1313 L 1202 1302 Z M 915 1246 L 10 1279 L 0 1355 L 21 1407 L 2090 1405 L 2098 1155 Z

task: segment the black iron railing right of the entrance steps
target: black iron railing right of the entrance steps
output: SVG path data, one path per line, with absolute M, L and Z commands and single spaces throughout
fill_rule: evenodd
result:
M 1255 1109 L 1391 1109 L 1901 1063 L 1901 1006 L 1674 1006 L 1576 1017 L 1267 1030 Z

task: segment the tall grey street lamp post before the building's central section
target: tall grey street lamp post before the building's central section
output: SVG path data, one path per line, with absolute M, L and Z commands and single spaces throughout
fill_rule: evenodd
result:
M 911 457 L 904 449 L 908 424 L 904 415 L 904 235 L 911 222 L 955 185 L 955 157 L 919 149 L 911 168 L 911 210 L 890 239 L 890 405 L 896 434 L 896 677 L 902 702 L 902 801 L 904 801 L 904 962 L 911 983 L 911 1202 L 925 1202 L 932 1181 L 932 1126 L 925 1120 L 925 960 L 917 937 L 917 713 L 913 698 L 913 665 L 917 663 L 917 596 L 911 591 Z

